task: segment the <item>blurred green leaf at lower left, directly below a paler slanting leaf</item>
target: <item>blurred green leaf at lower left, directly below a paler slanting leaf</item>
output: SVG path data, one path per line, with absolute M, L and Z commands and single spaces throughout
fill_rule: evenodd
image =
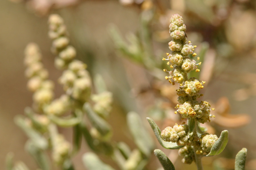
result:
M 51 169 L 49 166 L 49 160 L 47 155 L 40 150 L 32 141 L 27 141 L 25 149 L 30 153 L 30 155 L 36 160 L 37 164 L 42 170 Z

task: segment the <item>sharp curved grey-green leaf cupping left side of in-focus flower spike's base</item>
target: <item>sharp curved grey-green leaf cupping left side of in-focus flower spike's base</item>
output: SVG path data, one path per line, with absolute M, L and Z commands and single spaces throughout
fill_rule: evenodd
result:
M 160 145 L 162 145 L 166 149 L 179 149 L 179 148 L 183 147 L 183 146 L 178 146 L 177 143 L 164 141 L 161 137 L 161 131 L 158 128 L 158 126 L 156 125 L 156 123 L 151 118 L 147 118 L 147 120 L 148 120 L 151 128 L 153 129 L 153 131 L 156 135 L 156 138 L 157 138 L 158 142 L 160 143 Z

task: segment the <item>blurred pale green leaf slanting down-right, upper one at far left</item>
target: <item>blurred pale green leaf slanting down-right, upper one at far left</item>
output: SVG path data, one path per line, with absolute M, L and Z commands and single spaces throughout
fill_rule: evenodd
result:
M 14 122 L 26 133 L 38 148 L 44 150 L 48 147 L 48 141 L 40 133 L 28 126 L 22 117 L 15 117 Z

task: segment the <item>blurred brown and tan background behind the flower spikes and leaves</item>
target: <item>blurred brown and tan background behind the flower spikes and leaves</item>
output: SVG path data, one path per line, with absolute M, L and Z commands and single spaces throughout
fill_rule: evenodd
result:
M 1 0 L 0 1 L 0 165 L 4 168 L 7 153 L 22 160 L 31 169 L 36 163 L 24 151 L 27 137 L 13 118 L 31 106 L 32 93 L 26 89 L 24 48 L 36 42 L 50 79 L 56 82 L 55 96 L 62 87 L 57 83 L 61 72 L 55 69 L 48 38 L 48 16 L 63 17 L 77 49 L 77 58 L 88 65 L 92 78 L 103 76 L 113 93 L 109 123 L 113 140 L 135 146 L 126 126 L 126 114 L 136 111 L 155 139 L 146 117 L 153 118 L 160 129 L 180 122 L 174 115 L 177 86 L 171 86 L 162 72 L 162 58 L 170 52 L 169 20 L 173 14 L 183 16 L 188 40 L 197 45 L 195 52 L 202 65 L 191 73 L 206 81 L 202 100 L 215 108 L 210 133 L 218 136 L 229 131 L 229 142 L 219 156 L 203 158 L 206 169 L 234 169 L 236 153 L 248 149 L 247 169 L 256 169 L 256 1 L 254 0 Z M 60 129 L 71 141 L 72 130 Z M 177 150 L 163 150 L 176 169 L 195 169 L 185 165 Z M 85 169 L 82 150 L 73 159 L 77 169 Z M 102 156 L 105 163 L 113 161 Z M 160 167 L 152 154 L 148 170 Z

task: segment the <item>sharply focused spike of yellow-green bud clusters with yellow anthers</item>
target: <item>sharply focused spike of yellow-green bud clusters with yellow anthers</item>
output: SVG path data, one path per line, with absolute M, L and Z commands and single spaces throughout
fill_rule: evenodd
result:
M 178 102 L 181 105 L 177 105 L 177 111 L 174 113 L 180 113 L 182 118 L 188 118 L 189 121 L 205 123 L 210 121 L 210 117 L 214 117 L 210 114 L 210 104 L 207 101 L 197 101 L 197 98 L 202 96 L 200 90 L 204 87 L 204 81 L 198 80 L 195 77 L 188 79 L 187 74 L 193 70 L 199 72 L 197 65 L 192 57 L 197 54 L 193 53 L 196 46 L 193 46 L 190 41 L 187 41 L 186 26 L 183 23 L 183 18 L 178 14 L 174 14 L 170 20 L 170 35 L 172 41 L 169 42 L 169 48 L 172 52 L 166 53 L 167 65 L 173 68 L 172 71 L 164 71 L 169 73 L 169 76 L 165 78 L 169 80 L 171 84 L 175 82 L 179 83 L 180 88 L 177 91 Z M 190 55 L 191 54 L 191 55 Z M 189 56 L 190 55 L 190 56 Z M 199 60 L 199 58 L 197 58 Z M 174 65 L 176 65 L 174 67 Z M 202 134 L 197 136 L 196 130 L 192 129 L 189 133 L 189 126 L 176 124 L 174 127 L 165 128 L 161 137 L 166 142 L 177 143 L 178 146 L 184 146 L 179 150 L 179 155 L 183 156 L 184 163 L 192 163 L 195 160 L 196 154 L 208 154 L 216 142 L 218 137 L 212 134 Z

